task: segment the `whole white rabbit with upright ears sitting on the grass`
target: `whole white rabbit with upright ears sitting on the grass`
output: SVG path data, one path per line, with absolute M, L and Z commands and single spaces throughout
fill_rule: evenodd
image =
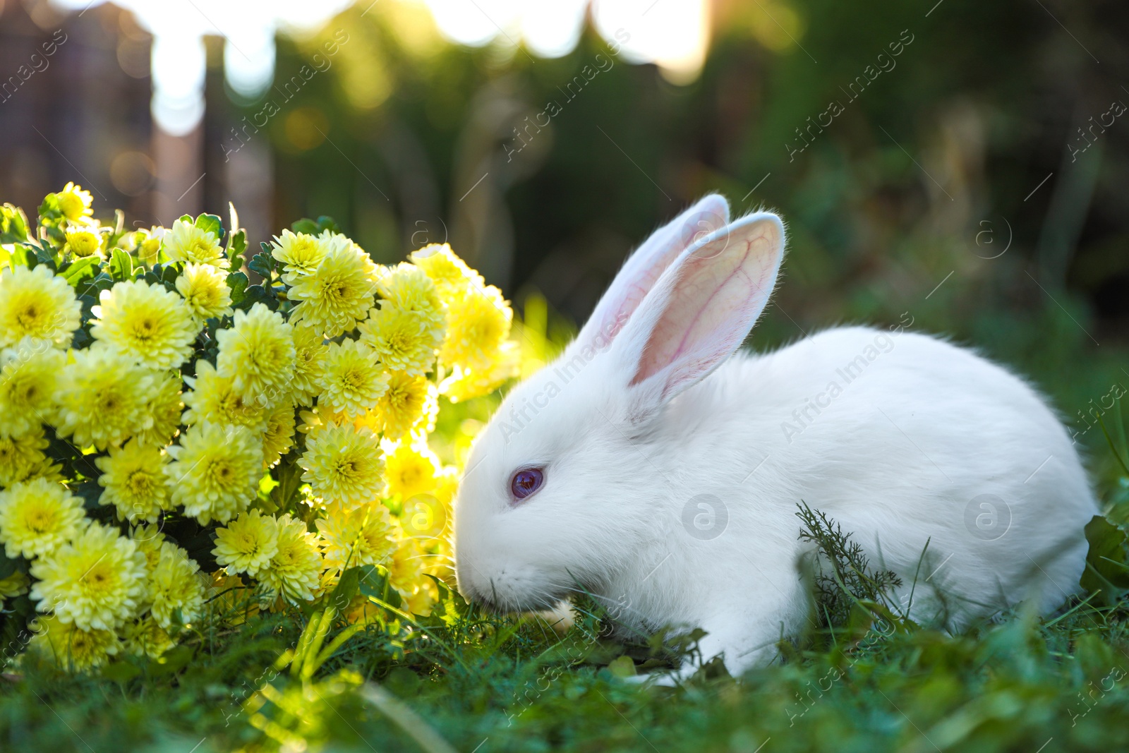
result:
M 812 619 L 803 500 L 902 578 L 919 621 L 960 629 L 1074 594 L 1097 507 L 1047 403 L 901 327 L 736 353 L 785 228 L 727 218 L 712 195 L 659 229 L 506 397 L 458 492 L 460 590 L 502 611 L 586 590 L 632 628 L 704 629 L 703 658 L 737 674 Z

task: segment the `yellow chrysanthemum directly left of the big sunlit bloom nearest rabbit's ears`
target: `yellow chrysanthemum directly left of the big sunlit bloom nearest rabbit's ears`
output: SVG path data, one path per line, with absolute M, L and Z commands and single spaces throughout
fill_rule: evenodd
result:
M 368 319 L 359 329 L 360 341 L 373 349 L 384 366 L 412 376 L 431 369 L 446 332 L 444 317 L 405 310 L 388 301 L 369 309 Z

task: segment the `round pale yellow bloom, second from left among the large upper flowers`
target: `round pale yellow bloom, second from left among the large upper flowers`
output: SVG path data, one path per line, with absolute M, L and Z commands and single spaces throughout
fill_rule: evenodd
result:
M 103 290 L 90 334 L 104 345 L 154 369 L 176 368 L 192 354 L 199 324 L 184 299 L 145 280 Z

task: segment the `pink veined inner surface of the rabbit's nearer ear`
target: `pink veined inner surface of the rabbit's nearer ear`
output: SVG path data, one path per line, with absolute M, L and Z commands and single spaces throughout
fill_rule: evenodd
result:
M 736 350 L 772 292 L 779 246 L 776 222 L 759 221 L 691 253 L 677 269 L 631 384 L 673 367 L 664 388 L 669 393 Z

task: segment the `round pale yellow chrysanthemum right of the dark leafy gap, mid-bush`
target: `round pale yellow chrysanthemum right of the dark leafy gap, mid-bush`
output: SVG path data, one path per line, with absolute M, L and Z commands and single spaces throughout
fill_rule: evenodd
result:
M 301 480 L 315 497 L 357 507 L 384 491 L 380 444 L 368 429 L 330 424 L 306 439 L 306 454 L 298 461 L 306 470 Z

